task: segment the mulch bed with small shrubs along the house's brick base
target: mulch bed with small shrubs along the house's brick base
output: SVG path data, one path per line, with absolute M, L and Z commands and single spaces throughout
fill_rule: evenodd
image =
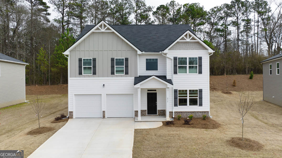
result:
M 163 121 L 162 124 L 163 126 L 167 126 L 167 127 L 185 127 L 185 128 L 202 128 L 202 129 L 216 129 L 220 127 L 220 124 L 211 119 L 211 118 L 192 118 L 190 124 L 191 125 L 186 125 L 184 124 L 184 119 L 187 118 L 180 118 L 180 120 L 178 120 L 177 118 L 174 118 L 174 124 L 170 124 L 170 125 L 166 125 L 166 121 Z

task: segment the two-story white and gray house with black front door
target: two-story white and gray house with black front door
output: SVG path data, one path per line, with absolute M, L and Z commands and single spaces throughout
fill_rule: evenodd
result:
M 213 52 L 189 25 L 86 25 L 63 53 L 69 117 L 209 116 Z

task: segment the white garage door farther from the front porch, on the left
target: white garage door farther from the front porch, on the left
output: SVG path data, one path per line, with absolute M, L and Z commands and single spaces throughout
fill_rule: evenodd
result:
M 75 118 L 101 118 L 102 99 L 101 94 L 78 94 L 75 99 Z

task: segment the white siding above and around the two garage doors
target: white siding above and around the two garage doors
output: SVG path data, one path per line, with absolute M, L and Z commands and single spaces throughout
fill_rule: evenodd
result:
M 69 111 L 73 111 L 74 94 L 102 94 L 102 110 L 105 111 L 105 94 L 133 94 L 134 110 L 138 110 L 137 88 L 134 78 L 70 78 Z M 105 87 L 103 87 L 105 84 Z

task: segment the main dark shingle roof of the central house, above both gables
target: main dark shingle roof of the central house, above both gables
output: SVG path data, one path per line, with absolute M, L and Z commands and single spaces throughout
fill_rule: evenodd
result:
M 76 41 L 95 25 L 86 25 Z M 194 31 L 188 24 L 182 25 L 110 25 L 140 51 L 164 51 L 186 31 Z

